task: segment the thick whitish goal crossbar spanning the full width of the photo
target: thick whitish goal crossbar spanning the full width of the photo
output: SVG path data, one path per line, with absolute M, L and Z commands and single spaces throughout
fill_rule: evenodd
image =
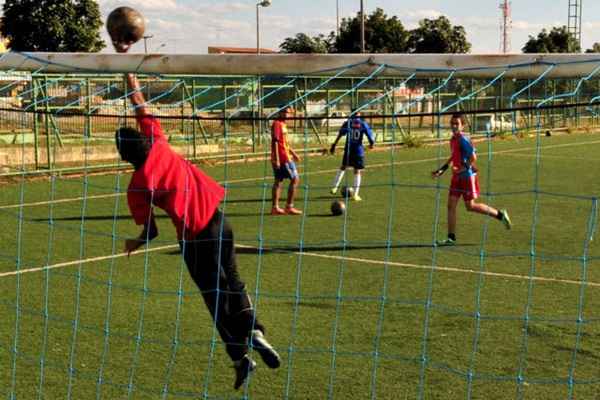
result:
M 302 75 L 535 79 L 579 78 L 594 73 L 594 54 L 103 54 L 21 53 L 0 55 L 0 71 L 121 73 L 161 75 Z

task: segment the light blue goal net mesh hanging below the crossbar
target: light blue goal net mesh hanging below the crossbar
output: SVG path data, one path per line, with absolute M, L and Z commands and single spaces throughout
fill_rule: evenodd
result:
M 598 61 L 588 61 L 592 65 Z M 283 357 L 240 392 L 175 234 L 131 257 L 129 165 L 114 131 L 130 90 L 103 71 L 0 73 L 0 388 L 7 398 L 590 398 L 599 387 L 593 241 L 600 66 L 578 79 L 443 78 L 381 64 L 307 76 L 143 75 L 186 158 L 226 189 L 241 274 Z M 562 65 L 565 67 L 565 65 Z M 484 68 L 484 67 L 481 67 Z M 477 71 L 477 66 L 472 66 Z M 384 71 L 397 71 L 390 76 Z M 474 74 L 475 75 L 475 74 Z M 294 108 L 296 206 L 271 210 L 270 126 Z M 446 233 L 449 121 L 466 117 L 481 201 Z M 330 214 L 339 128 L 376 134 L 361 196 Z M 344 185 L 352 186 L 352 171 Z M 285 195 L 284 195 L 285 197 Z M 503 394 L 502 394 L 503 393 Z

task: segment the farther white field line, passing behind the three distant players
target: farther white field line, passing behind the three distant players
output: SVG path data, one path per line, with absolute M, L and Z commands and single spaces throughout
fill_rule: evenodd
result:
M 542 149 L 551 149 L 551 148 L 561 148 L 561 147 L 573 147 L 573 146 L 584 146 L 584 145 L 588 145 L 588 144 L 598 144 L 600 143 L 600 140 L 592 140 L 590 142 L 581 142 L 581 143 L 566 143 L 566 144 L 557 144 L 557 145 L 550 145 L 550 146 L 542 146 Z M 528 151 L 528 150 L 534 150 L 535 147 L 524 147 L 521 149 L 510 149 L 510 150 L 499 150 L 499 151 L 494 151 L 492 152 L 492 154 L 507 154 L 507 153 L 518 153 L 518 152 L 522 152 L 522 151 Z M 481 152 L 478 153 L 479 155 L 486 155 L 489 154 L 489 152 Z M 547 156 L 544 156 L 547 157 Z M 420 164 L 420 163 L 425 163 L 425 162 L 432 162 L 432 161 L 438 161 L 438 158 L 424 158 L 421 160 L 411 160 L 411 161 L 398 161 L 398 162 L 394 162 L 394 166 L 396 165 L 410 165 L 410 164 Z M 389 167 L 390 163 L 379 163 L 379 164 L 369 164 L 369 168 L 383 168 L 383 167 Z M 338 169 L 328 169 L 328 170 L 322 170 L 322 171 L 311 171 L 311 172 L 305 172 L 304 174 L 301 175 L 320 175 L 320 174 L 330 174 L 330 173 L 334 173 L 336 172 Z M 261 177 L 261 178 L 243 178 L 243 179 L 234 179 L 234 180 L 230 180 L 227 181 L 227 183 L 242 183 L 242 182 L 254 182 L 254 181 L 261 181 L 261 180 L 265 180 L 265 177 Z M 223 182 L 221 182 L 223 183 Z M 124 196 L 126 194 L 126 192 L 122 192 L 122 193 L 110 193 L 110 194 L 100 194 L 100 195 L 93 195 L 93 196 L 87 196 L 87 199 L 103 199 L 103 198 L 110 198 L 110 197 L 116 197 L 116 196 Z M 48 205 L 50 203 L 53 204 L 58 204 L 58 203 L 69 203 L 69 202 L 75 202 L 75 201 L 81 201 L 83 200 L 83 197 L 73 197 L 73 198 L 68 198 L 68 199 L 59 199 L 59 200 L 54 200 L 54 201 L 37 201 L 37 202 L 32 202 L 32 203 L 23 203 L 23 204 L 10 204 L 10 205 L 4 205 L 4 206 L 0 206 L 0 210 L 6 210 L 6 209 L 10 209 L 10 208 L 20 208 L 20 207 L 32 207 L 32 206 L 43 206 L 43 205 Z

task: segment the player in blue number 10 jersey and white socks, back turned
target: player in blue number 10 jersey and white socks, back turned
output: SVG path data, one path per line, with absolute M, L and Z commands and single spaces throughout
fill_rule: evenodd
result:
M 346 145 L 344 146 L 342 166 L 335 175 L 331 194 L 337 193 L 338 187 L 344 178 L 346 167 L 352 167 L 354 168 L 354 194 L 352 195 L 352 200 L 361 201 L 362 199 L 358 195 L 358 192 L 362 180 L 362 170 L 365 168 L 365 148 L 362 143 L 366 136 L 369 141 L 369 148 L 372 149 L 375 145 L 375 138 L 373 137 L 373 131 L 371 131 L 369 124 L 360 118 L 359 112 L 355 111 L 352 112 L 352 116 L 348 118 L 340 128 L 338 136 L 335 138 L 335 141 L 329 150 L 331 154 L 335 153 L 335 146 L 344 136 L 346 137 Z

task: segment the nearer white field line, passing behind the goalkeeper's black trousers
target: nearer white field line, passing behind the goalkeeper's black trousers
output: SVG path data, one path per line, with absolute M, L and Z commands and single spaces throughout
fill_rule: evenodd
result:
M 236 247 L 244 248 L 244 249 L 257 249 L 256 246 L 248 246 L 248 245 L 240 245 L 240 244 L 237 244 Z M 144 250 L 135 251 L 135 252 L 131 253 L 131 256 L 141 255 L 146 252 L 150 253 L 150 252 L 156 252 L 156 251 L 161 251 L 161 250 L 170 250 L 170 249 L 174 249 L 174 248 L 179 248 L 179 246 L 178 245 L 166 245 L 166 246 L 160 246 L 160 247 L 152 247 L 147 250 L 144 249 Z M 269 248 L 264 248 L 264 249 L 269 250 Z M 357 263 L 363 263 L 363 264 L 384 265 L 384 266 L 387 265 L 387 266 L 391 266 L 391 267 L 400 267 L 400 268 L 406 268 L 406 269 L 419 269 L 419 270 L 425 270 L 425 271 L 431 271 L 433 269 L 434 271 L 440 271 L 440 272 L 456 272 L 456 273 L 463 273 L 463 274 L 470 274 L 470 275 L 483 275 L 483 276 L 489 276 L 489 277 L 517 279 L 517 280 L 524 280 L 524 281 L 532 280 L 535 282 L 554 282 L 554 283 L 565 283 L 565 284 L 578 285 L 578 286 L 586 285 L 586 286 L 590 286 L 590 287 L 600 287 L 600 283 L 597 283 L 597 282 L 590 282 L 590 281 L 583 282 L 583 281 L 577 281 L 577 280 L 572 280 L 572 279 L 545 278 L 545 277 L 541 277 L 541 276 L 531 276 L 530 277 L 527 275 L 507 274 L 507 273 L 490 272 L 490 271 L 478 271 L 478 270 L 474 270 L 474 269 L 463 269 L 463 268 L 456 268 L 456 267 L 442 267 L 442 266 L 432 267 L 431 265 L 409 264 L 409 263 L 402 263 L 402 262 L 397 262 L 397 261 L 373 260 L 373 259 L 369 259 L 369 258 L 344 257 L 344 256 L 320 254 L 320 253 L 313 253 L 313 252 L 301 252 L 301 251 L 278 250 L 278 249 L 275 249 L 275 252 L 290 253 L 290 254 L 295 254 L 295 255 L 300 255 L 300 256 L 305 256 L 305 257 L 325 258 L 325 259 L 337 260 L 337 261 L 346 261 L 346 262 L 351 261 L 351 262 L 357 262 Z M 18 271 L 4 272 L 4 273 L 0 274 L 0 278 L 8 277 L 8 276 L 23 275 L 23 274 L 32 273 L 32 272 L 41 272 L 41 271 L 46 271 L 46 270 L 51 270 L 51 269 L 56 269 L 56 268 L 65 268 L 65 267 L 70 267 L 70 266 L 75 266 L 75 265 L 83 265 L 83 264 L 88 264 L 88 263 L 92 263 L 92 262 L 104 261 L 104 260 L 110 260 L 112 258 L 122 258 L 122 257 L 127 257 L 127 253 L 118 253 L 118 254 L 109 255 L 109 256 L 101 256 L 101 257 L 86 258 L 83 260 L 67 261 L 67 262 L 63 262 L 63 263 L 59 263 L 59 264 L 47 265 L 44 267 L 25 268 L 25 269 L 20 269 Z

